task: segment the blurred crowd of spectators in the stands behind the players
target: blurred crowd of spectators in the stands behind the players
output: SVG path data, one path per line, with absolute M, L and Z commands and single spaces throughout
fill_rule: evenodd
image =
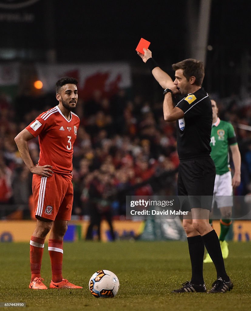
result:
M 88 101 L 79 98 L 75 109 L 80 127 L 73 154 L 72 214 L 93 215 L 93 225 L 99 221 L 97 215 L 108 222 L 111 216 L 125 215 L 126 195 L 176 194 L 176 123 L 164 121 L 162 100 L 132 97 L 119 90 L 107 98 L 97 90 Z M 219 117 L 235 128 L 242 156 L 241 185 L 235 194 L 245 195 L 251 192 L 251 131 L 240 124 L 251 126 L 251 105 L 239 105 L 234 97 L 217 103 Z M 0 96 L 0 204 L 31 208 L 32 174 L 14 137 L 54 105 L 55 95 L 14 100 Z M 29 150 L 36 164 L 38 138 L 29 142 Z

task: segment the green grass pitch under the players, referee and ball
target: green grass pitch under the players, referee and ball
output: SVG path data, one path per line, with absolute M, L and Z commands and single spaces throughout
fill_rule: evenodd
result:
M 63 276 L 83 290 L 30 290 L 29 243 L 0 243 L 0 302 L 26 302 L 14 310 L 251 310 L 251 244 L 230 242 L 225 260 L 234 289 L 225 294 L 184 293 L 171 290 L 190 280 L 186 242 L 118 241 L 64 243 Z M 44 248 L 42 277 L 51 281 L 50 259 Z M 114 272 L 120 281 L 115 298 L 95 298 L 88 282 L 99 270 Z M 207 289 L 216 279 L 212 263 L 204 264 Z M 3 309 L 7 309 L 4 307 Z

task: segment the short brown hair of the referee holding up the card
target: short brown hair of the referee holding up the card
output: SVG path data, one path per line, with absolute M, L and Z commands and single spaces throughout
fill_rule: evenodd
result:
M 179 63 L 172 64 L 172 69 L 173 70 L 182 69 L 183 75 L 184 77 L 186 77 L 187 81 L 189 80 L 190 77 L 195 77 L 194 84 L 197 86 L 202 85 L 205 72 L 204 72 L 204 65 L 201 61 L 193 58 L 184 59 Z

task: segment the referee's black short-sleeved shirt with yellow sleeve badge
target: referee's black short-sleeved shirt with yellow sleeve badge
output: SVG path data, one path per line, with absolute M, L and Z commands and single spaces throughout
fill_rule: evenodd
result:
M 185 96 L 176 107 L 185 116 L 177 120 L 177 151 L 180 160 L 209 156 L 212 129 L 212 104 L 202 88 Z

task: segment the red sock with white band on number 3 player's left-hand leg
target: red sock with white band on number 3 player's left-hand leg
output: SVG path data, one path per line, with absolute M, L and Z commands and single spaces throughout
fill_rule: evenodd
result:
M 41 263 L 43 257 L 44 240 L 31 236 L 30 239 L 30 271 L 31 271 L 31 282 L 35 277 L 41 277 Z

